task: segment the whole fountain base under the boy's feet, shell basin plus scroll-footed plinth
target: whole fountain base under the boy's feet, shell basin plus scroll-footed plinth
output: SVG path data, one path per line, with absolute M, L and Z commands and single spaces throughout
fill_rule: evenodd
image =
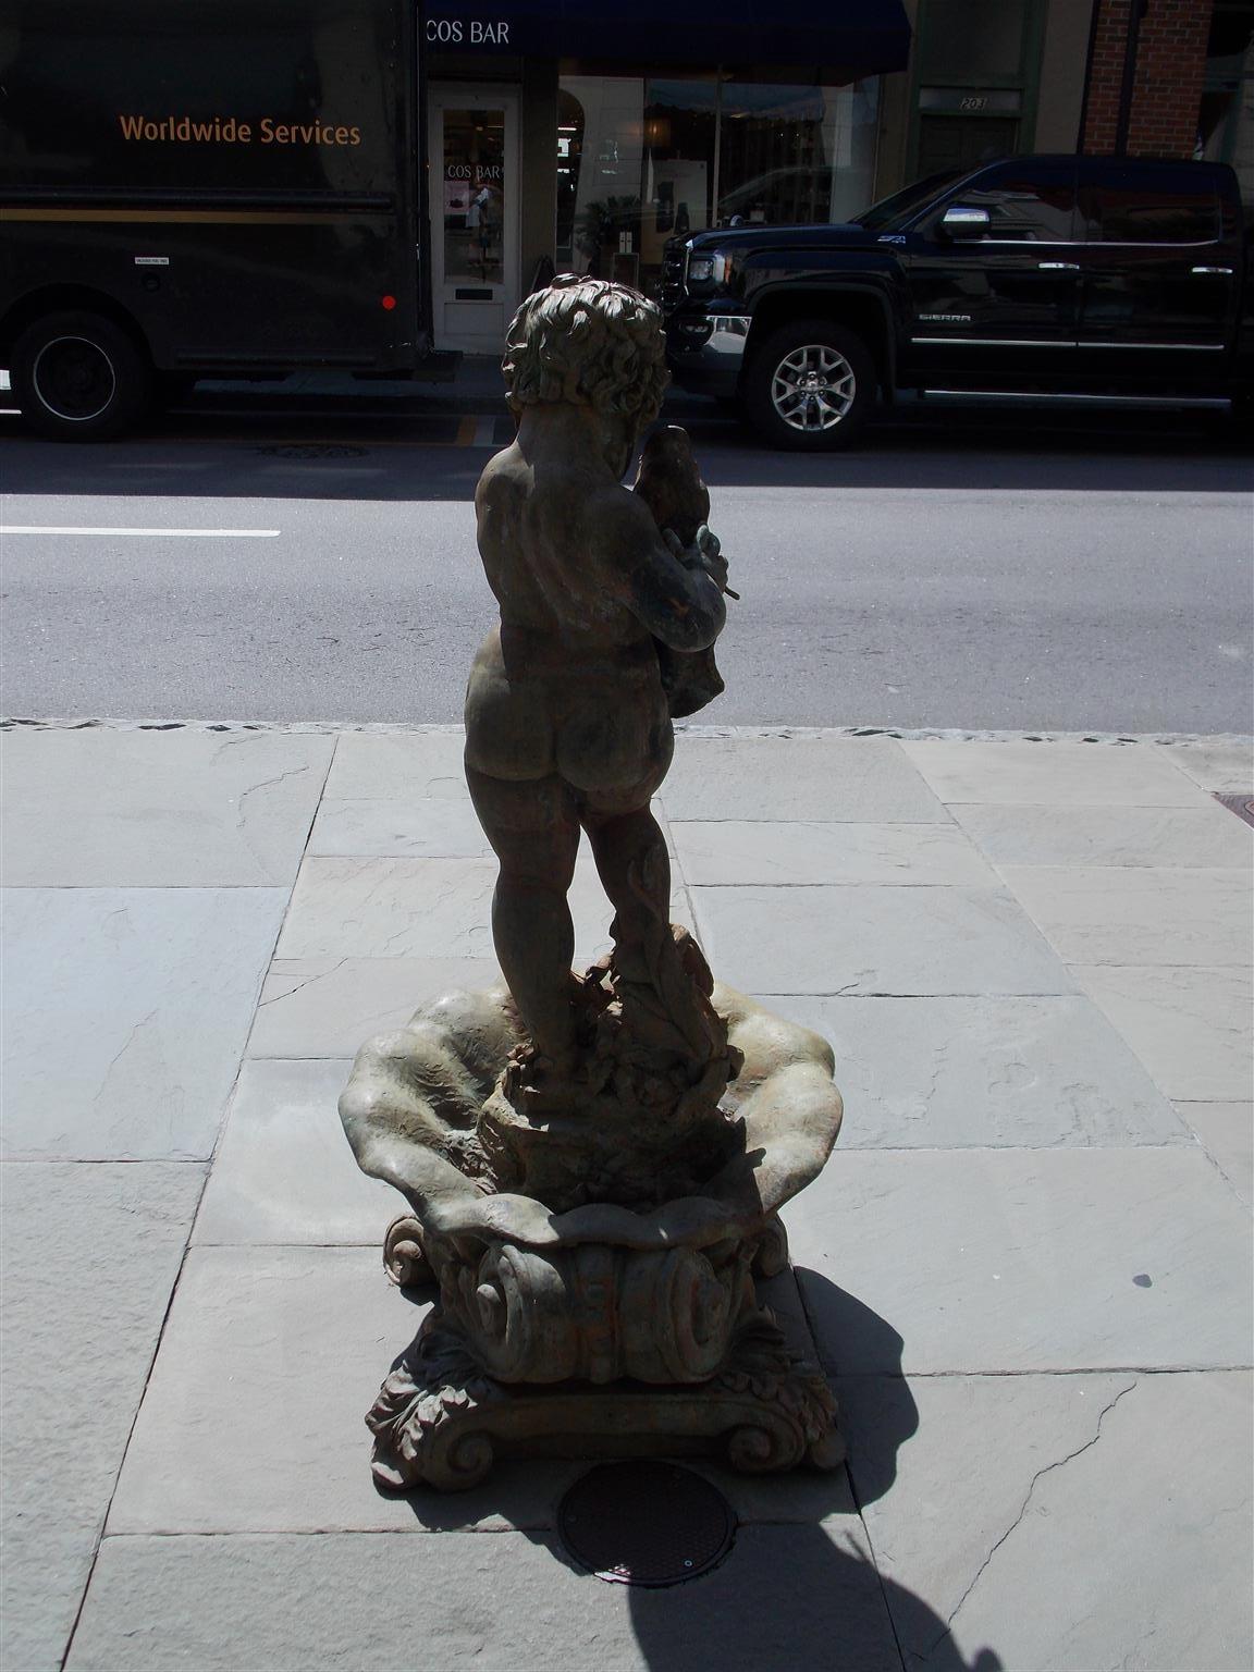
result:
M 545 1083 L 503 990 L 358 1053 L 344 1129 L 411 1206 L 385 1259 L 440 1289 L 371 1411 L 376 1475 L 470 1485 L 497 1450 L 570 1446 L 836 1460 L 826 1383 L 759 1292 L 786 1266 L 777 1211 L 839 1130 L 829 1047 L 711 981 L 686 1058 L 612 965 L 572 980 L 594 1045 L 577 1097 Z

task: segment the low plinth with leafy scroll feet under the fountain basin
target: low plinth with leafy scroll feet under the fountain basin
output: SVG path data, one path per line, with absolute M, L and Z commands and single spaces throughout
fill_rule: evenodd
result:
M 366 1425 L 380 1486 L 477 1486 L 498 1458 L 707 1456 L 747 1475 L 844 1460 L 836 1399 L 767 1309 L 709 1381 L 650 1386 L 503 1383 L 431 1314 L 383 1383 Z

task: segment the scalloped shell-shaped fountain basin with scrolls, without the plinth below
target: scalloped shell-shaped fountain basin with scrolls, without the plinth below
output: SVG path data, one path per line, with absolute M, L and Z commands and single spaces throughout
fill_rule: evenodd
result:
M 490 1194 L 473 1144 L 520 1032 L 508 993 L 450 993 L 358 1052 L 339 1100 L 358 1165 L 408 1199 L 450 1321 L 507 1383 L 712 1376 L 754 1311 L 774 1216 L 823 1169 L 841 1125 L 826 1040 L 714 988 L 744 1053 L 724 1109 L 742 1144 L 702 1194 L 635 1212 L 552 1212 Z

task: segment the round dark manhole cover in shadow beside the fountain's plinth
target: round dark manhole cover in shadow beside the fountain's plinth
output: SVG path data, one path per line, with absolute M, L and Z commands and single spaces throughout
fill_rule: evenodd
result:
M 674 1463 L 602 1463 L 557 1511 L 575 1562 L 615 1585 L 682 1585 L 731 1550 L 736 1517 L 707 1480 Z

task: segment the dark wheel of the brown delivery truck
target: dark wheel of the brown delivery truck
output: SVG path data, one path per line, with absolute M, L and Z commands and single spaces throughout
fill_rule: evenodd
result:
M 47 314 L 13 344 L 22 416 L 54 441 L 102 441 L 132 425 L 152 396 L 152 370 L 125 331 L 92 313 Z

